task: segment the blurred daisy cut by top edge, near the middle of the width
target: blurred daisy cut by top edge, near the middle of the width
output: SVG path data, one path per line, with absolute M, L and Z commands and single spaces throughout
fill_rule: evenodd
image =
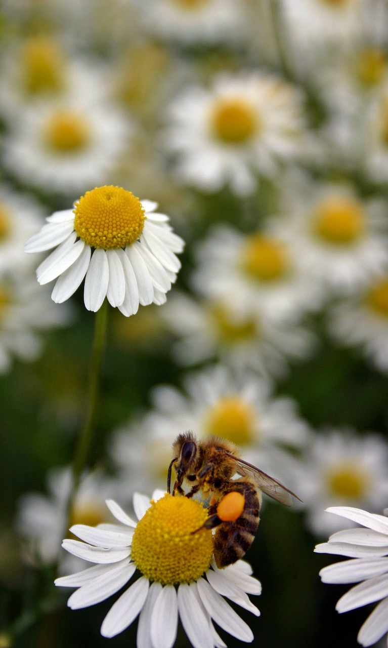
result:
M 181 43 L 228 45 L 244 36 L 244 9 L 238 0 L 137 0 L 143 28 Z

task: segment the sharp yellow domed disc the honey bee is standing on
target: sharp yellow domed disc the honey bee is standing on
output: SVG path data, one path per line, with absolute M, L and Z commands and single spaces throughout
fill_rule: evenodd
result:
M 207 510 L 186 497 L 165 494 L 152 502 L 133 533 L 137 568 L 163 585 L 197 581 L 212 561 L 212 532 L 200 528 L 206 519 Z

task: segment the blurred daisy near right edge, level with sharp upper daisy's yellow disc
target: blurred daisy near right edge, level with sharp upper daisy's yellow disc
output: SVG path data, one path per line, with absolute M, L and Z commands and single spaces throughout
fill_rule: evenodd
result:
M 387 207 L 348 185 L 291 174 L 279 229 L 302 272 L 340 292 L 356 289 L 388 262 Z

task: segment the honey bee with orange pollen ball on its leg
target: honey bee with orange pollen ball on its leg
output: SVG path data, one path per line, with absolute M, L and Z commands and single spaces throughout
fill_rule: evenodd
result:
M 193 432 L 185 432 L 177 436 L 173 450 L 167 491 L 170 492 L 174 467 L 173 495 L 179 493 L 192 497 L 200 492 L 205 500 L 209 500 L 209 516 L 203 527 L 216 527 L 214 559 L 218 568 L 238 561 L 251 546 L 258 527 L 262 492 L 288 506 L 292 497 L 299 500 L 279 481 L 241 459 L 238 448 L 220 437 L 211 436 L 198 441 Z M 232 479 L 235 474 L 240 477 Z M 182 488 L 185 480 L 191 485 L 187 493 Z

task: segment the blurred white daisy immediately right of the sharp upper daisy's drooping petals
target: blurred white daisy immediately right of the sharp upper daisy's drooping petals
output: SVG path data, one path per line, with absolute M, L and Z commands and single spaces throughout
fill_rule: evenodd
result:
M 233 304 L 246 317 L 265 312 L 269 321 L 298 321 L 317 310 L 325 293 L 304 271 L 301 255 L 271 220 L 264 231 L 243 234 L 229 226 L 212 228 L 198 244 L 192 284 L 206 297 Z

